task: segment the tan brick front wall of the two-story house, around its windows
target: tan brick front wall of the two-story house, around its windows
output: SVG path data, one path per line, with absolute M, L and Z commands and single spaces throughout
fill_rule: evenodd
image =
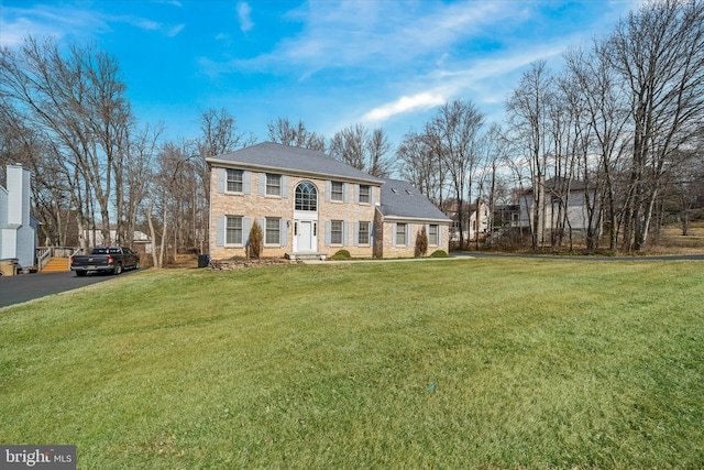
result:
M 223 216 L 240 216 L 251 218 L 257 222 L 266 217 L 280 217 L 288 220 L 286 245 L 264 244 L 262 256 L 283 258 L 294 252 L 294 220 L 295 193 L 300 182 L 310 182 L 318 192 L 317 249 L 316 252 L 331 256 L 340 249 L 348 250 L 354 258 L 372 258 L 373 244 L 354 247 L 354 222 L 374 221 L 375 204 L 355 204 L 355 183 L 349 182 L 348 203 L 326 201 L 327 181 L 288 175 L 287 197 L 260 196 L 260 173 L 251 174 L 250 194 L 218 193 L 218 167 L 211 168 L 210 177 L 210 258 L 227 260 L 234 256 L 245 256 L 244 247 L 218 247 L 217 220 Z M 380 200 L 378 186 L 372 185 L 373 201 Z M 348 239 L 342 244 L 326 247 L 326 226 L 330 220 L 348 222 Z M 264 230 L 265 228 L 262 227 Z M 373 240 L 372 240 L 373 241 Z

